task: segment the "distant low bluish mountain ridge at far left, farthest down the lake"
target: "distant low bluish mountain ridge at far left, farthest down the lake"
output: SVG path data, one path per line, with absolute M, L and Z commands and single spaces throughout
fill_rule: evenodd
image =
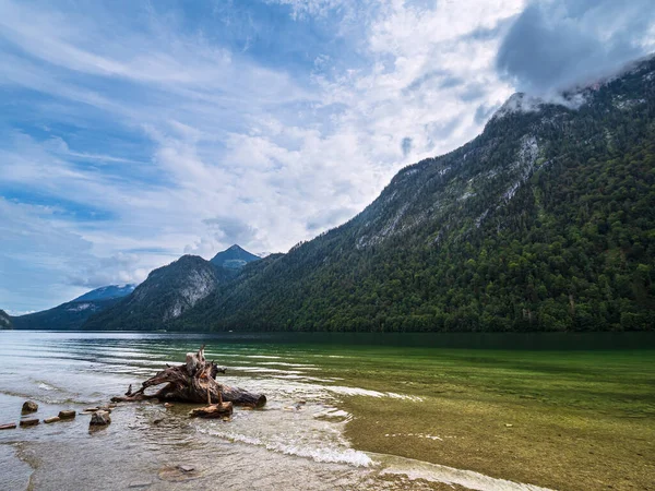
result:
M 111 307 L 130 295 L 133 285 L 100 287 L 52 309 L 12 318 L 16 330 L 74 331 L 93 314 Z

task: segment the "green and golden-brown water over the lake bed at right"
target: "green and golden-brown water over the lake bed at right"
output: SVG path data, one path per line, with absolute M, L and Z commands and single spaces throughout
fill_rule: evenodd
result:
M 655 351 L 341 357 L 324 368 L 348 385 L 413 396 L 345 397 L 346 436 L 358 450 L 561 490 L 654 489 Z

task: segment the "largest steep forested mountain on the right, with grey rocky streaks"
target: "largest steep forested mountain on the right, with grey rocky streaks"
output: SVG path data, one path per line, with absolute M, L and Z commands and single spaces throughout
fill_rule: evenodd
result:
M 246 265 L 177 330 L 655 328 L 655 59 L 401 170 L 357 217 Z

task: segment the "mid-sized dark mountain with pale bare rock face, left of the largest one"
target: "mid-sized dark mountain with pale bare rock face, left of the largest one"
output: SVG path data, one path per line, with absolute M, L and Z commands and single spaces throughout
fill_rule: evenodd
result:
M 231 248 L 230 248 L 231 249 Z M 134 291 L 97 315 L 84 330 L 159 330 L 235 275 L 196 255 L 154 270 Z

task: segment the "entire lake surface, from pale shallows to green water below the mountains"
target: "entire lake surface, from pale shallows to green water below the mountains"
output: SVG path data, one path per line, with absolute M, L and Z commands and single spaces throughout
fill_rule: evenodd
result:
M 2 331 L 0 424 L 25 399 L 40 419 L 106 404 L 202 344 L 263 409 L 0 431 L 0 489 L 655 489 L 653 333 Z

